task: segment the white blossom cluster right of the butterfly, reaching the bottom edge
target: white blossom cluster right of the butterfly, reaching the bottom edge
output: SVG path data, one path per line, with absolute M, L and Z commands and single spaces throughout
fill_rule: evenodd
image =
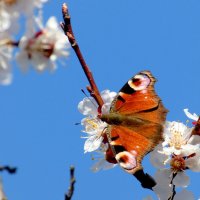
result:
M 193 120 L 198 116 L 184 109 L 186 115 Z M 181 122 L 166 122 L 164 128 L 164 142 L 160 143 L 150 154 L 151 163 L 158 168 L 156 173 L 157 185 L 153 188 L 159 199 L 167 200 L 172 193 L 172 185 L 187 187 L 190 183 L 186 169 L 200 171 L 200 136 L 192 135 L 193 128 Z M 175 195 L 176 200 L 183 195 L 193 200 L 193 194 L 182 190 Z

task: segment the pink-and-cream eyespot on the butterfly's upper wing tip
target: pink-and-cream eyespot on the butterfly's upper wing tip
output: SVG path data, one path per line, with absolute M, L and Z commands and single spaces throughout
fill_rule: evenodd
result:
M 136 90 L 136 91 L 139 91 L 139 90 L 144 90 L 148 87 L 148 85 L 150 84 L 150 79 L 148 76 L 146 75 L 141 75 L 141 74 L 137 74 L 136 76 L 134 76 L 133 79 L 130 79 L 128 81 L 128 85 Z

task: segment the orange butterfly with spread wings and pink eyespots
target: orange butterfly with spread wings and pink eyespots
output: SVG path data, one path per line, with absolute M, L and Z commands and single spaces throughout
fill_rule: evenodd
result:
M 155 82 L 150 71 L 136 74 L 121 88 L 109 114 L 100 116 L 108 124 L 106 160 L 117 162 L 149 189 L 156 183 L 144 173 L 141 162 L 162 141 L 168 112 L 155 92 Z

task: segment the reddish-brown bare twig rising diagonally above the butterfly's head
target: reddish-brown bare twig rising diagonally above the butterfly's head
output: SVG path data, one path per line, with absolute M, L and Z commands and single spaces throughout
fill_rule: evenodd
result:
M 71 20 L 70 20 L 70 15 L 69 15 L 69 10 L 66 4 L 63 4 L 62 6 L 62 14 L 63 14 L 63 20 L 64 22 L 61 23 L 61 27 L 65 33 L 65 35 L 68 37 L 69 42 L 72 46 L 72 48 L 74 49 L 76 56 L 79 59 L 79 62 L 82 66 L 82 69 L 90 83 L 90 86 L 87 87 L 87 90 L 89 91 L 90 95 L 92 97 L 94 97 L 94 99 L 96 100 L 98 106 L 99 106 L 99 111 L 101 111 L 101 107 L 103 106 L 104 102 L 103 99 L 101 98 L 100 92 L 97 88 L 97 85 L 94 81 L 92 72 L 90 71 L 89 67 L 87 66 L 84 57 L 81 53 L 81 50 L 78 46 L 78 43 L 75 39 L 73 30 L 72 30 L 72 26 L 71 26 Z

